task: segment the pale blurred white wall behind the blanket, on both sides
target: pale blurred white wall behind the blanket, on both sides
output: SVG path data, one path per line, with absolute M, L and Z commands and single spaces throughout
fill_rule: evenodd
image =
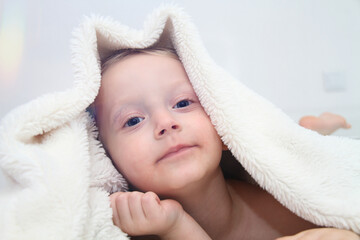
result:
M 141 29 L 164 0 L 0 0 L 0 118 L 72 86 L 70 39 L 84 15 Z M 360 137 L 360 0 L 179 0 L 215 61 L 295 121 L 324 111 Z M 266 120 L 266 119 L 264 119 Z

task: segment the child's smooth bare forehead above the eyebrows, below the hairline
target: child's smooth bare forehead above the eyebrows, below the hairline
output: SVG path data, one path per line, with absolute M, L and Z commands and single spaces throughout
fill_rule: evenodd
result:
M 168 91 L 194 92 L 181 62 L 164 55 L 136 54 L 108 67 L 102 76 L 98 99 L 133 99 L 149 92 Z

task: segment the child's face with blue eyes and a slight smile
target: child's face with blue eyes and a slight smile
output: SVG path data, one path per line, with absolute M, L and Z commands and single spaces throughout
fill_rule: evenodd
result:
M 137 188 L 167 195 L 218 167 L 222 142 L 180 61 L 129 56 L 103 74 L 95 103 L 101 140 Z

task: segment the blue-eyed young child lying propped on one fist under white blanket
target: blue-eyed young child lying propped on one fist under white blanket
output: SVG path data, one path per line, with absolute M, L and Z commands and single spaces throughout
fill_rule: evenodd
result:
M 258 186 L 224 178 L 226 146 L 172 50 L 126 50 L 105 60 L 94 110 L 107 153 L 138 190 L 110 196 L 114 224 L 129 235 L 359 239 L 317 228 Z

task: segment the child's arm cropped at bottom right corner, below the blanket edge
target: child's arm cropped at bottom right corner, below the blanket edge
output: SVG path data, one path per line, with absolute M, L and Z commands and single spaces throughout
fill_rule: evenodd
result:
M 360 240 L 355 233 L 336 228 L 315 228 L 277 240 Z

